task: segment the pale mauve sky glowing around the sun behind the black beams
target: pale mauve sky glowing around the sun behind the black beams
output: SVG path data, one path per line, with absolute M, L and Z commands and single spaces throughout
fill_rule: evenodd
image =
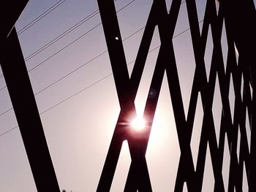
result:
M 198 19 L 203 20 L 206 2 L 196 2 Z M 55 9 L 42 19 L 36 20 L 37 22 L 33 21 L 54 4 Z M 118 12 L 118 22 L 122 39 L 129 37 L 124 40 L 123 45 L 130 74 L 152 1 L 116 0 L 115 4 L 117 10 L 124 8 Z M 167 7 L 170 8 L 168 0 Z M 59 186 L 67 191 L 96 191 L 120 111 L 97 9 L 95 0 L 30 0 L 15 24 Z M 95 15 L 88 18 L 94 11 Z M 80 20 L 86 21 L 64 35 L 65 31 L 79 24 Z M 173 36 L 178 37 L 173 39 L 173 46 L 186 115 L 195 72 L 195 58 L 188 28 L 185 2 L 181 4 Z M 160 44 L 157 30 L 156 28 L 154 31 L 150 50 Z M 222 33 L 225 34 L 225 29 Z M 133 35 L 130 36 L 131 34 Z M 227 40 L 225 35 L 223 38 L 222 50 L 225 58 Z M 42 49 L 43 46 L 45 48 Z M 212 49 L 209 31 L 205 57 L 208 71 L 207 64 L 211 61 Z M 135 99 L 138 114 L 141 114 L 145 107 L 158 51 L 159 48 L 156 48 L 148 54 Z M 4 86 L 4 78 L 1 77 L 0 89 L 3 89 L 0 91 L 0 191 L 37 191 L 20 131 L 15 128 L 18 123 L 14 111 L 10 110 L 10 96 Z M 215 94 L 213 112 L 217 118 L 214 123 L 219 125 L 222 107 L 218 83 Z M 230 100 L 233 98 L 231 96 Z M 194 161 L 197 158 L 202 120 L 203 107 L 199 96 L 191 143 Z M 179 155 L 173 108 L 165 77 L 146 152 L 153 191 L 173 191 Z M 228 167 L 230 157 L 227 148 L 225 157 L 224 164 Z M 124 142 L 111 191 L 124 190 L 130 162 L 128 145 Z M 206 170 L 203 191 L 206 188 L 208 191 L 214 185 L 209 153 L 206 155 Z M 228 169 L 223 170 L 223 175 L 227 186 Z M 243 187 L 246 189 L 246 182 Z

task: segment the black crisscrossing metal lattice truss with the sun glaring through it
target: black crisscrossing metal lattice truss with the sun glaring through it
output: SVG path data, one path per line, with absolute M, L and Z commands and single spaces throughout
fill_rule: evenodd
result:
M 152 191 L 145 155 L 165 72 L 181 150 L 174 191 L 182 191 L 185 182 L 188 191 L 202 190 L 207 147 L 210 150 L 214 172 L 214 191 L 234 191 L 235 189 L 242 191 L 243 177 L 247 178 L 249 191 L 256 190 L 253 165 L 256 162 L 253 155 L 255 154 L 256 123 L 253 91 L 256 64 L 255 7 L 253 1 L 249 0 L 221 1 L 217 10 L 216 3 L 219 4 L 215 0 L 206 2 L 203 29 L 200 32 L 195 0 L 186 1 L 196 65 L 186 117 L 178 79 L 178 63 L 176 63 L 172 42 L 181 0 L 172 1 L 170 12 L 166 8 L 165 0 L 153 1 L 131 77 L 128 74 L 114 2 L 98 0 L 121 111 L 97 191 L 110 191 L 124 140 L 128 142 L 132 158 L 124 191 Z M 130 131 L 127 122 L 136 114 L 135 96 L 156 26 L 159 29 L 161 45 L 143 114 L 148 125 L 146 131 L 135 134 Z M 224 27 L 226 34 L 222 34 Z M 207 77 L 204 58 L 209 34 L 212 34 L 214 48 L 209 77 Z M 226 62 L 223 59 L 221 42 L 224 35 L 227 37 Z M 219 127 L 214 123 L 213 115 L 214 91 L 217 83 L 219 83 L 222 103 Z M 230 90 L 233 90 L 234 101 L 229 99 Z M 198 99 L 199 94 L 201 99 Z M 197 102 L 203 105 L 203 125 L 200 127 L 199 150 L 197 161 L 194 163 L 191 140 Z M 230 107 L 232 102 L 234 102 L 234 110 Z M 227 139 L 227 146 L 225 146 L 225 139 Z M 224 186 L 222 177 L 225 147 L 228 147 L 230 153 L 230 167 L 227 168 L 229 169 L 228 188 Z M 243 175 L 243 169 L 246 170 L 246 175 Z

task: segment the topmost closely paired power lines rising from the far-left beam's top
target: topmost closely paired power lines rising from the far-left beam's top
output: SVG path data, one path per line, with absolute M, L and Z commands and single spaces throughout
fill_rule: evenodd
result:
M 35 23 L 37 23 L 39 20 L 41 20 L 42 18 L 45 18 L 46 15 L 48 15 L 50 12 L 52 12 L 54 9 L 56 9 L 57 7 L 59 7 L 61 4 L 64 3 L 64 1 L 66 0 L 59 0 L 58 2 L 56 2 L 56 4 L 53 4 L 52 7 L 50 7 L 49 9 L 47 9 L 45 12 L 43 12 L 41 15 L 39 15 L 37 18 L 35 18 L 34 20 L 32 20 L 30 23 L 28 23 L 26 26 L 24 26 L 23 28 L 21 28 L 17 34 L 18 36 L 20 34 L 23 34 L 24 31 L 28 30 L 28 28 L 31 28 L 31 26 L 34 26 Z

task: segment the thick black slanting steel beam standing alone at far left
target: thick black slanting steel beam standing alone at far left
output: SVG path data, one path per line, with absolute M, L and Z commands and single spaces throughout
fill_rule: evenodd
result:
M 4 43 L 1 42 L 1 50 L 1 69 L 37 191 L 60 191 L 15 28 Z

